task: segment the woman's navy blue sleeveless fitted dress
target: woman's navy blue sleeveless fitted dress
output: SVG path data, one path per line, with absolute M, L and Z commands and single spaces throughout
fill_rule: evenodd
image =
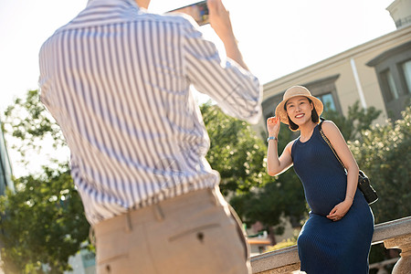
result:
M 310 217 L 297 241 L 301 271 L 308 274 L 367 274 L 368 254 L 374 233 L 374 216 L 357 189 L 353 205 L 339 221 L 326 216 L 346 194 L 347 176 L 318 125 L 311 139 L 293 143 L 291 156 L 295 173 L 311 207 Z

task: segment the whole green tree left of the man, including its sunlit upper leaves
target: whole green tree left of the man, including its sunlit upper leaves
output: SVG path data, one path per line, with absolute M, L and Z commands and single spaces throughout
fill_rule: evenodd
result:
M 42 152 L 47 144 L 65 146 L 56 122 L 29 90 L 24 100 L 17 99 L 5 111 L 4 129 L 16 139 L 16 149 L 27 164 L 26 153 Z M 68 257 L 87 239 L 89 223 L 79 194 L 69 174 L 68 163 L 50 164 L 38 174 L 14 180 L 16 193 L 0 198 L 2 241 L 1 257 L 6 273 L 41 273 L 47 264 L 50 273 L 69 269 Z

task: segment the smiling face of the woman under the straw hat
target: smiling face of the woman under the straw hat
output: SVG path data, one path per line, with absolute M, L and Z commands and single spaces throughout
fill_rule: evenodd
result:
M 311 121 L 312 103 L 305 96 L 293 97 L 286 103 L 287 114 L 290 120 L 297 125 Z

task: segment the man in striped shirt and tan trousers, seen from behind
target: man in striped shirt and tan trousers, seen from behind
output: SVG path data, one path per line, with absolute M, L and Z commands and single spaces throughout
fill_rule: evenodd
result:
M 258 79 L 221 0 L 208 1 L 209 20 L 226 64 L 192 19 L 150 14 L 149 3 L 90 0 L 40 50 L 41 100 L 70 148 L 97 271 L 248 273 L 247 243 L 205 160 L 209 140 L 189 86 L 257 122 Z

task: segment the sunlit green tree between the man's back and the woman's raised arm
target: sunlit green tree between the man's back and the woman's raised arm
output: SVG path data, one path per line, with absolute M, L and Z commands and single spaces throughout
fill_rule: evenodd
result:
M 269 180 L 265 172 L 266 146 L 245 121 L 227 116 L 216 105 L 200 106 L 210 137 L 208 163 L 221 176 L 224 195 L 248 192 Z

